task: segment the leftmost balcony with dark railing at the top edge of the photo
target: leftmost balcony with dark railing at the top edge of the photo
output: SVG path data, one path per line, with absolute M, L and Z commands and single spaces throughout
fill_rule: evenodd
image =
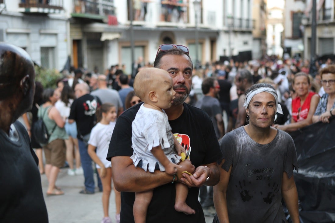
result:
M 57 13 L 63 10 L 63 0 L 21 0 L 19 11 L 24 13 Z

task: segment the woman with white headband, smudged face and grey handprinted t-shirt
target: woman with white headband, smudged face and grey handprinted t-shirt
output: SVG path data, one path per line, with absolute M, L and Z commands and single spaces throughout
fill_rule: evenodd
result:
M 214 186 L 213 223 L 287 222 L 282 198 L 297 223 L 294 142 L 284 131 L 271 127 L 276 112 L 281 112 L 277 93 L 270 84 L 255 84 L 246 91 L 244 106 L 249 124 L 220 141 L 223 161 L 220 182 Z

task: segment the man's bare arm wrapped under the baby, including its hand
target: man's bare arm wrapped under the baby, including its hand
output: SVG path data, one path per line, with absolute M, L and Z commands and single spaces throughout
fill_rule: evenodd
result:
M 173 176 L 166 172 L 155 170 L 154 173 L 145 172 L 142 168 L 136 168 L 129 156 L 112 157 L 112 172 L 115 189 L 123 192 L 142 192 L 152 190 L 160 185 L 171 183 Z M 177 174 L 187 170 L 194 171 L 194 166 L 189 160 L 179 163 L 182 168 Z M 177 180 L 177 179 L 176 179 Z

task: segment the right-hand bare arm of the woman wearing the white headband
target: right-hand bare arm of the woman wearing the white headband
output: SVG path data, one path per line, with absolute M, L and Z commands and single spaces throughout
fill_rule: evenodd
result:
M 281 194 L 293 223 L 299 223 L 298 192 L 293 175 L 288 178 L 286 172 L 283 173 Z

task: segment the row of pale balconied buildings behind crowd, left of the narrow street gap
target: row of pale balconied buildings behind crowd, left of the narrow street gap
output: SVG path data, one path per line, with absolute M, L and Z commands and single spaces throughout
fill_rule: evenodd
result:
M 253 0 L 170 2 L 0 0 L 0 41 L 24 48 L 47 68 L 61 70 L 69 56 L 75 68 L 98 73 L 115 64 L 130 73 L 139 57 L 153 63 L 164 43 L 189 47 L 201 65 L 261 54 L 253 50 Z

